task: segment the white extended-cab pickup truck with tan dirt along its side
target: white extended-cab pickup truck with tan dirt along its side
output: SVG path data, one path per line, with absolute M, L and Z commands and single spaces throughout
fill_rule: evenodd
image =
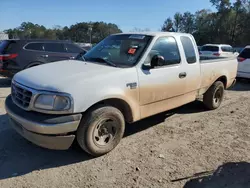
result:
M 200 61 L 190 34 L 115 34 L 75 60 L 17 73 L 5 108 L 27 140 L 64 150 L 76 139 L 100 156 L 118 145 L 126 123 L 202 95 L 209 109 L 218 108 L 237 66 L 236 57 Z

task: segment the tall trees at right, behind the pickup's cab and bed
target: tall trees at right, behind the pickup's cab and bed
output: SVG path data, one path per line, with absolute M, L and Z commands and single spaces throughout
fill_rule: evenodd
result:
M 250 42 L 250 1 L 210 0 L 215 12 L 202 9 L 195 14 L 176 13 L 167 18 L 162 31 L 185 32 L 194 35 L 198 44 L 228 43 L 245 46 Z

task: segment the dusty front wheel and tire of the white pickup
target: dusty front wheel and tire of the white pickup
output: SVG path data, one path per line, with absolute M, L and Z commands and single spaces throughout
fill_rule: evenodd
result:
M 104 155 L 120 142 L 125 120 L 120 110 L 112 106 L 98 106 L 88 112 L 78 127 L 76 138 L 80 147 L 93 156 Z

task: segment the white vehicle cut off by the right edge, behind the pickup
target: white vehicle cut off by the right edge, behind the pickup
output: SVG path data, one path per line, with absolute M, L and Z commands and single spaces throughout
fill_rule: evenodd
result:
M 246 46 L 238 56 L 238 78 L 250 78 L 250 46 Z

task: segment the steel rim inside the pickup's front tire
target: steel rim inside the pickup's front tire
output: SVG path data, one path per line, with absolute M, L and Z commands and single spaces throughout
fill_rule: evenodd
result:
M 112 142 L 117 132 L 114 120 L 106 119 L 100 122 L 94 131 L 94 141 L 99 146 L 105 146 Z

